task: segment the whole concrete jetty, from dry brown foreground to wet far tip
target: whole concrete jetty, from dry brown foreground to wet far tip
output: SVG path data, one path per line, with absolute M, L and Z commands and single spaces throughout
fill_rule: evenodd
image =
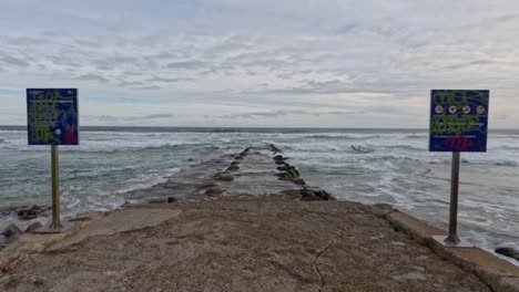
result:
M 519 291 L 519 268 L 389 205 L 336 201 L 274 146 L 193 163 L 121 210 L 26 233 L 1 291 Z M 147 200 L 147 202 L 144 201 Z

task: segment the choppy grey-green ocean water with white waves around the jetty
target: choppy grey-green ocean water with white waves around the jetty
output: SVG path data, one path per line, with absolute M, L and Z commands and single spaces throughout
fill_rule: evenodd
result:
M 83 127 L 60 148 L 62 215 L 111 210 L 124 194 L 195 161 L 272 143 L 303 178 L 340 200 L 387 202 L 448 228 L 450 154 L 427 152 L 419 129 Z M 50 205 L 50 147 L 0 127 L 0 208 Z M 519 131 L 493 131 L 488 152 L 461 154 L 459 233 L 488 250 L 519 249 Z M 2 218 L 0 228 L 17 221 Z M 19 221 L 17 221 L 20 223 Z

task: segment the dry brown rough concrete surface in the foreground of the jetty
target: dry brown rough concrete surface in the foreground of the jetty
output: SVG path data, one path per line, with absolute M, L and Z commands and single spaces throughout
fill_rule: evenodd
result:
M 152 206 L 151 208 L 157 208 Z M 7 267 L 3 291 L 490 291 L 375 207 L 281 198 L 164 205 L 156 227 Z

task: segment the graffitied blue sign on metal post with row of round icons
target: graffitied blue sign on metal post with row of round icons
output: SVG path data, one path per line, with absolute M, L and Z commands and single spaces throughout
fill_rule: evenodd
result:
M 432 237 L 444 247 L 474 247 L 458 229 L 459 156 L 486 152 L 489 91 L 434 90 L 430 93 L 429 152 L 452 153 L 448 236 Z

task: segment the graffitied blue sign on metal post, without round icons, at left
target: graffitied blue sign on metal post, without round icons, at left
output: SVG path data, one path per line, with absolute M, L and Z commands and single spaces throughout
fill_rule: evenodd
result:
M 52 220 L 37 232 L 57 233 L 71 227 L 60 221 L 59 145 L 79 145 L 78 90 L 28 88 L 27 122 L 29 145 L 51 146 Z

